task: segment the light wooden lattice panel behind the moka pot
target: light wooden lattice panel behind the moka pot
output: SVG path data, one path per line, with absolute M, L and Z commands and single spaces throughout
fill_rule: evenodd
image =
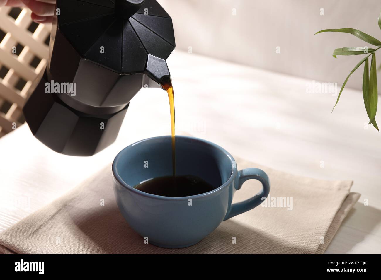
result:
M 23 122 L 22 107 L 45 70 L 51 24 L 36 24 L 27 8 L 0 8 L 0 137 Z

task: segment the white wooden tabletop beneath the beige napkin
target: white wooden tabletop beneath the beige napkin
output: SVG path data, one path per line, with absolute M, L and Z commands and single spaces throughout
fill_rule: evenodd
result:
M 336 97 L 306 93 L 311 80 L 179 51 L 168 66 L 176 131 L 274 169 L 353 179 L 352 191 L 362 196 L 327 253 L 381 253 L 381 134 L 364 129 L 362 93 L 345 89 L 331 115 Z M 168 97 L 160 89 L 142 89 L 133 98 L 117 141 L 93 157 L 57 154 L 22 125 L 0 139 L 0 230 L 80 184 L 123 147 L 168 134 Z

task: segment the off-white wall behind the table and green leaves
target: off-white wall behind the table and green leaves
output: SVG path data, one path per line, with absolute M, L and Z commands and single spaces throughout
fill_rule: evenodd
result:
M 376 0 L 158 0 L 174 23 L 176 48 L 339 86 L 361 60 L 331 56 L 335 48 L 366 46 L 352 27 L 381 40 Z M 232 15 L 235 8 L 237 15 Z M 324 15 L 320 15 L 320 8 Z M 275 53 L 280 46 L 280 54 Z M 371 47 L 369 45 L 369 47 Z M 378 51 L 381 64 L 381 50 Z M 347 83 L 361 89 L 362 67 Z M 274 81 L 276 82 L 276 81 Z

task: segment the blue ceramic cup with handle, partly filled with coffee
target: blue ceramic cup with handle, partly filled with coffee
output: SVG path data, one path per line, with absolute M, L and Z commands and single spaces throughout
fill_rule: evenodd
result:
M 187 136 L 176 136 L 176 175 L 197 176 L 216 189 L 187 197 L 164 197 L 134 189 L 147 179 L 172 175 L 171 136 L 149 138 L 126 147 L 115 157 L 112 173 L 117 205 L 128 224 L 149 243 L 164 248 L 184 248 L 200 242 L 222 221 L 261 204 L 270 191 L 264 171 L 238 171 L 226 150 Z M 234 192 L 248 179 L 260 181 L 263 189 L 254 197 L 232 204 Z

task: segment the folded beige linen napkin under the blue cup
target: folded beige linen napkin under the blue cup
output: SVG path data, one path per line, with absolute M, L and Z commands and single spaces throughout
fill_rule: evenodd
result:
M 259 167 L 269 175 L 269 203 L 267 207 L 260 205 L 222 222 L 214 232 L 194 246 L 164 249 L 144 244 L 143 238 L 128 226 L 119 213 L 112 189 L 111 166 L 108 165 L 69 194 L 5 230 L 0 234 L 0 251 L 323 253 L 360 197 L 357 193 L 349 192 L 352 181 L 316 180 L 237 158 L 236 162 L 239 169 Z M 259 182 L 248 180 L 242 189 L 235 192 L 234 202 L 252 197 L 259 189 Z M 284 197 L 283 202 L 286 203 L 276 203 L 275 200 L 280 202 L 280 198 Z

